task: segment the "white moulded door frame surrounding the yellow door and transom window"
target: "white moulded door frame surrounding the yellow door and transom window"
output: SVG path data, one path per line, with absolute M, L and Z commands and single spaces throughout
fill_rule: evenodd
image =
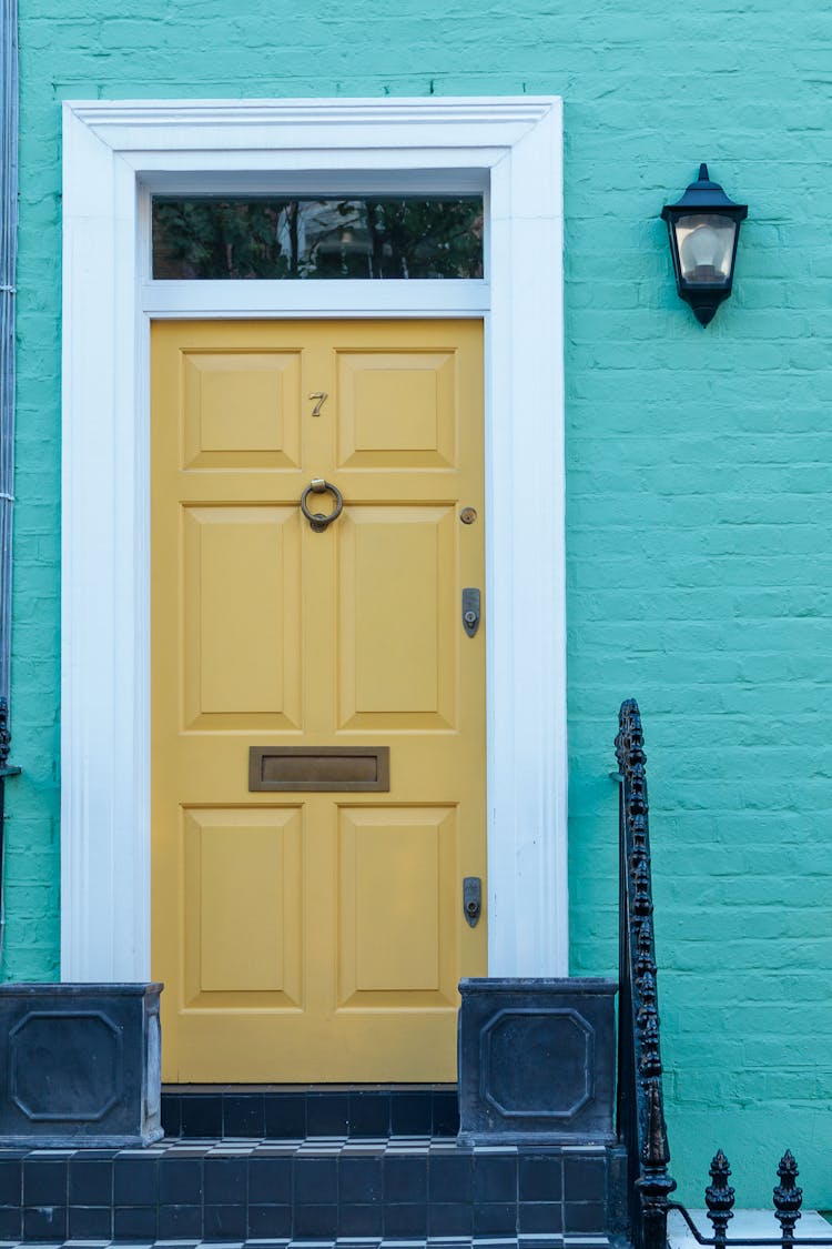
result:
M 326 309 L 308 289 L 322 284 L 147 281 L 143 189 L 304 177 L 488 187 L 488 281 L 437 282 L 433 295 L 372 284 L 333 292 Z M 561 205 L 558 97 L 64 106 L 65 979 L 150 974 L 148 313 L 192 315 L 195 299 L 206 316 L 481 316 L 490 305 L 489 970 L 568 972 Z

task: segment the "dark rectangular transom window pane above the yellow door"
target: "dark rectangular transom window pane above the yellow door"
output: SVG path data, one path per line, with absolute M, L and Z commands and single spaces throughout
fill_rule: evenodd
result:
M 481 199 L 153 201 L 157 279 L 481 277 Z

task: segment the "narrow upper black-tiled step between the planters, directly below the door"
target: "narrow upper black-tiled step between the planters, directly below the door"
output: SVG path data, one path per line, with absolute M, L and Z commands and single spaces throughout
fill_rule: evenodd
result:
M 166 1137 L 454 1137 L 455 1084 L 167 1084 Z

